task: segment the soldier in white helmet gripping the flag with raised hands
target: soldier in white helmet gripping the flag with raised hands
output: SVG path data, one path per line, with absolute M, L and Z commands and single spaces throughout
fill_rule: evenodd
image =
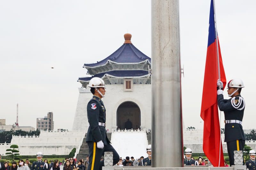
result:
M 245 102 L 240 93 L 244 87 L 241 79 L 233 79 L 228 82 L 228 96 L 231 99 L 223 98 L 223 83 L 218 80 L 217 98 L 220 111 L 225 116 L 225 140 L 230 166 L 234 164 L 234 151 L 244 152 L 245 136 L 242 127 Z M 243 157 L 244 159 L 244 157 Z M 243 161 L 244 162 L 244 161 Z

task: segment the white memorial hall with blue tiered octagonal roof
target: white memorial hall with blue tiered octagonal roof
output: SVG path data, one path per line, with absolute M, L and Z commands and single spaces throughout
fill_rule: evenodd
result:
M 90 77 L 78 78 L 82 84 L 73 130 L 88 129 L 86 106 L 92 93 L 87 85 L 93 77 L 102 78 L 106 95 L 106 129 L 151 129 L 151 58 L 131 42 L 132 35 L 124 34 L 124 44 L 107 58 L 97 63 L 85 63 Z

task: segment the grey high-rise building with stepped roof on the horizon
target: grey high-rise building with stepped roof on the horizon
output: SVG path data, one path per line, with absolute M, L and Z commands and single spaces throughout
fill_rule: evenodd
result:
M 48 112 L 44 118 L 36 118 L 36 129 L 38 130 L 53 130 L 53 113 Z

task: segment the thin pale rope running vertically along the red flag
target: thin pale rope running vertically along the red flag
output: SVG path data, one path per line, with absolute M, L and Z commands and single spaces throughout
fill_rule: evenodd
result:
M 218 42 L 218 32 L 217 32 L 217 21 L 215 13 L 215 0 L 213 0 L 213 11 L 214 11 L 214 27 L 216 36 L 216 53 L 217 53 L 217 63 L 218 63 L 218 79 L 220 80 L 220 59 L 219 59 L 219 42 Z M 221 124 L 221 112 L 220 112 L 220 124 Z M 221 146 L 221 128 L 220 128 L 220 146 Z M 219 149 L 220 153 L 220 149 Z M 220 154 L 219 154 L 219 166 L 220 166 Z

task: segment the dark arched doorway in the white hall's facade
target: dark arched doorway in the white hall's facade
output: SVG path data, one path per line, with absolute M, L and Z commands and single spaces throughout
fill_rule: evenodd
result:
M 131 101 L 119 105 L 116 112 L 117 129 L 140 129 L 140 108 Z

